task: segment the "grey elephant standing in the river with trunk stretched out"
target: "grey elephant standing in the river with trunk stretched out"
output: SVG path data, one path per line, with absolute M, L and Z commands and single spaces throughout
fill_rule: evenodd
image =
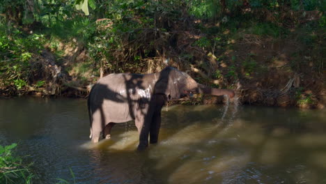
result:
M 138 149 L 157 143 L 161 125 L 161 109 L 165 102 L 191 97 L 193 93 L 228 95 L 230 89 L 214 89 L 197 83 L 185 72 L 166 67 L 150 74 L 113 73 L 95 83 L 88 95 L 91 121 L 90 139 L 96 143 L 111 136 L 116 123 L 134 121 L 139 132 Z

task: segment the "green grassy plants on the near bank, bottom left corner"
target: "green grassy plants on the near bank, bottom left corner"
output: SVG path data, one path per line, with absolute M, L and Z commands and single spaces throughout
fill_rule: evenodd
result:
M 17 144 L 0 145 L 0 183 L 33 183 L 35 176 L 31 172 L 31 164 L 22 164 L 22 159 L 14 156 Z

